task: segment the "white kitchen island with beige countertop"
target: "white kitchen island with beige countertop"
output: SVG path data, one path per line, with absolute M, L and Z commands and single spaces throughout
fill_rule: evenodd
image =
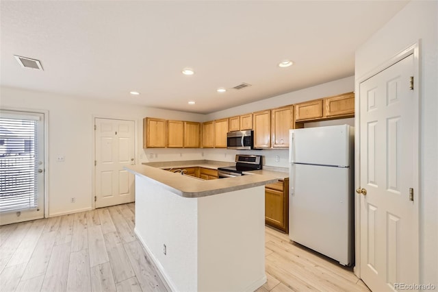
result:
M 255 291 L 264 282 L 269 175 L 199 180 L 138 165 L 136 234 L 172 291 Z

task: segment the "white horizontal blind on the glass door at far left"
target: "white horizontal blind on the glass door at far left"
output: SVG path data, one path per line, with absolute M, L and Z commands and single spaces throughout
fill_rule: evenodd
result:
M 0 212 L 38 208 L 36 122 L 0 117 Z

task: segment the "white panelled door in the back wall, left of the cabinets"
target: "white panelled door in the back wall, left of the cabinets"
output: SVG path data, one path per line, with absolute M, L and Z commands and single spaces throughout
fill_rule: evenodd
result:
M 134 121 L 95 119 L 96 208 L 134 202 Z

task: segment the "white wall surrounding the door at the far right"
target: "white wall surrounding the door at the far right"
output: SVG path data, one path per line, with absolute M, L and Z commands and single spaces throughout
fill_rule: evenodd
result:
M 356 79 L 420 40 L 420 283 L 438 285 L 438 2 L 411 1 L 356 52 Z

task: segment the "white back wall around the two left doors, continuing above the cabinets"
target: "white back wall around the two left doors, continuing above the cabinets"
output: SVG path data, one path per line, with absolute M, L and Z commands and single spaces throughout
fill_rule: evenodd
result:
M 94 160 L 94 117 L 136 121 L 138 157 L 142 149 L 142 119 L 157 117 L 203 121 L 203 114 L 146 108 L 142 106 L 40 93 L 17 88 L 0 88 L 2 109 L 49 111 L 49 215 L 60 215 L 92 207 Z M 64 156 L 65 162 L 57 162 Z M 142 160 L 140 158 L 140 160 Z M 153 160 L 152 160 L 153 161 Z M 76 202 L 70 203 L 70 197 Z

